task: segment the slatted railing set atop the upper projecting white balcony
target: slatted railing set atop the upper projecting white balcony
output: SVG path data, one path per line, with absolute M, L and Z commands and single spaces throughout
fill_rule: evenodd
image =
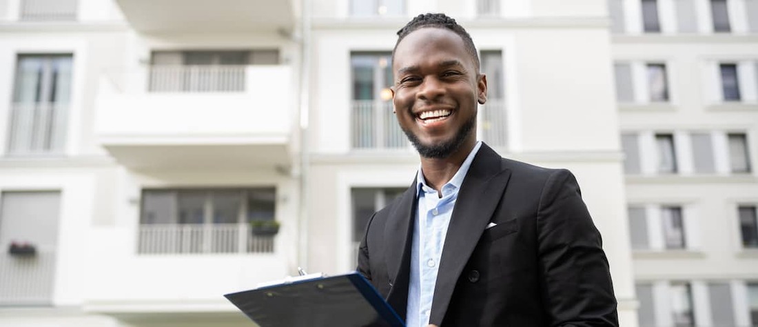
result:
M 150 92 L 243 92 L 245 65 L 152 65 Z

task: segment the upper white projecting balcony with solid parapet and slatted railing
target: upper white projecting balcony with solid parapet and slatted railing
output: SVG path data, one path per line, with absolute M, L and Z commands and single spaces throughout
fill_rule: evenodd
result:
M 110 72 L 100 83 L 96 136 L 130 168 L 288 165 L 290 81 L 283 65 Z

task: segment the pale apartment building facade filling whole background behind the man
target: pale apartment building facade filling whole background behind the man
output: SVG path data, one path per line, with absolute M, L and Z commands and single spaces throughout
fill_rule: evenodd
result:
M 569 168 L 625 326 L 758 325 L 758 0 L 0 0 L 0 325 L 243 326 L 412 183 L 390 52 L 473 37 L 478 138 Z

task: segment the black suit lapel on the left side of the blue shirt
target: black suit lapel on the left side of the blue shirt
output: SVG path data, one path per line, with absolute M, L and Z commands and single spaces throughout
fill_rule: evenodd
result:
M 414 180 L 411 187 L 402 194 L 399 202 L 393 207 L 384 225 L 384 260 L 391 285 L 390 293 L 387 294 L 387 303 L 390 303 L 390 306 L 403 319 L 406 317 L 408 303 L 413 221 L 418 202 L 416 196 L 416 181 Z

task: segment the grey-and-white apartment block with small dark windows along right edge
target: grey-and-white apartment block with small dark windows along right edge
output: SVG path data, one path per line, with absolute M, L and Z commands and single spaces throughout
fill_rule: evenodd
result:
M 758 2 L 608 4 L 640 325 L 758 325 Z

